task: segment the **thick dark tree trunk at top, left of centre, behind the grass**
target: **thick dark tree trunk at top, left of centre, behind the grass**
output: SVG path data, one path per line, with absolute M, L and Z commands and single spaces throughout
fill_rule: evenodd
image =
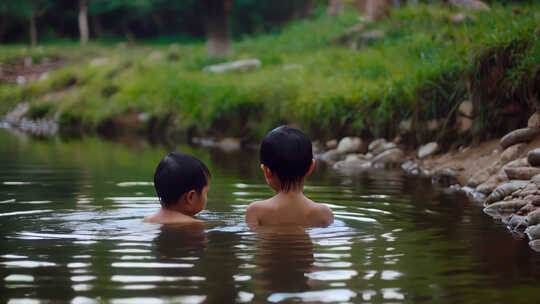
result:
M 232 0 L 206 0 L 208 21 L 208 54 L 211 57 L 226 57 L 230 50 L 228 10 Z

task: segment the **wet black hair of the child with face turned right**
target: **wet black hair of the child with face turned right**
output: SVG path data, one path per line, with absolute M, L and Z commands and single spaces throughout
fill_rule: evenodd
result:
M 154 173 L 154 187 L 163 207 L 170 207 L 182 194 L 201 193 L 210 181 L 208 168 L 193 156 L 172 152 L 159 163 Z

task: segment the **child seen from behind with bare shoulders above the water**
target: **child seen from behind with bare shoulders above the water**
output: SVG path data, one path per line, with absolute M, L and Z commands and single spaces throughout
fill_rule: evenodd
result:
M 276 195 L 253 202 L 246 211 L 246 222 L 258 226 L 329 226 L 334 218 L 325 205 L 304 196 L 304 180 L 315 166 L 311 141 L 302 131 L 278 127 L 261 143 L 261 169 Z

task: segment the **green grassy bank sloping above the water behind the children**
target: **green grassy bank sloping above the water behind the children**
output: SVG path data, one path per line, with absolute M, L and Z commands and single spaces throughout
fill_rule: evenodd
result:
M 122 117 L 125 122 L 146 113 L 145 130 L 173 125 L 190 134 L 247 140 L 278 123 L 321 138 L 391 137 L 411 119 L 416 132 L 409 139 L 419 142 L 455 138 L 456 108 L 472 94 L 481 112 L 474 132 L 489 136 L 505 128 L 498 124 L 505 105 L 530 109 L 538 102 L 540 5 L 466 12 L 468 20 L 459 24 L 451 21 L 456 13 L 441 6 L 393 11 L 366 24 L 364 32 L 384 36 L 356 49 L 340 39 L 364 21 L 355 12 L 297 21 L 281 33 L 235 42 L 224 60 L 263 63 L 243 73 L 203 72 L 224 61 L 208 58 L 203 44 L 44 47 L 47 56 L 60 50 L 58 57 L 71 60 L 44 81 L 0 85 L 0 111 L 29 101 L 29 115 L 55 116 L 63 126 L 86 130 L 114 128 Z M 155 51 L 162 58 L 152 56 Z M 108 61 L 92 65 L 97 57 Z M 436 134 L 425 127 L 432 120 L 440 122 Z

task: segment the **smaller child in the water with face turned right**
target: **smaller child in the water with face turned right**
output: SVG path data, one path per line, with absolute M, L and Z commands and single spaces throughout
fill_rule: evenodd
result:
M 210 172 L 198 159 L 172 152 L 159 163 L 154 173 L 154 187 L 161 209 L 144 218 L 158 224 L 204 223 L 193 218 L 206 206 Z

